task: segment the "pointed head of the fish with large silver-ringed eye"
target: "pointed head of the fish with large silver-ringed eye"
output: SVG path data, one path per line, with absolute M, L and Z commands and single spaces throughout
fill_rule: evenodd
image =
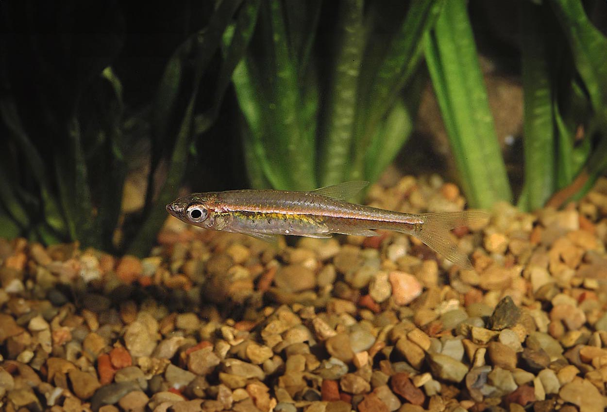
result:
M 193 193 L 166 205 L 166 211 L 182 222 L 204 228 L 214 225 L 214 193 Z

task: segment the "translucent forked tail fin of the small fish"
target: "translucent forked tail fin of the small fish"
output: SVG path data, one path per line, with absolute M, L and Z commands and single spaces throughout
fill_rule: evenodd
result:
M 424 244 L 442 254 L 449 261 L 464 269 L 472 269 L 472 263 L 453 241 L 452 229 L 483 221 L 489 216 L 483 211 L 456 211 L 442 213 L 423 213 L 419 215 L 423 222 L 416 224 L 414 230 L 408 230 Z

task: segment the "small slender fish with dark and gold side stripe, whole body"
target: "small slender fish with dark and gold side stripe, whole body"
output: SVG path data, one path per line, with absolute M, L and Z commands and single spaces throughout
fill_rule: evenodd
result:
M 482 211 L 401 213 L 348 202 L 368 182 L 352 181 L 313 191 L 229 190 L 192 193 L 166 205 L 191 225 L 244 233 L 264 241 L 278 234 L 330 238 L 333 233 L 379 236 L 393 230 L 415 236 L 449 261 L 472 268 L 450 230 L 486 218 Z

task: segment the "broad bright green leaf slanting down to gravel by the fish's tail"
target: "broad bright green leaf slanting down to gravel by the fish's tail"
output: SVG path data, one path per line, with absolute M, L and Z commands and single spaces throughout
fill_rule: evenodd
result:
M 426 63 L 470 205 L 489 208 L 510 201 L 466 1 L 446 2 L 427 35 Z

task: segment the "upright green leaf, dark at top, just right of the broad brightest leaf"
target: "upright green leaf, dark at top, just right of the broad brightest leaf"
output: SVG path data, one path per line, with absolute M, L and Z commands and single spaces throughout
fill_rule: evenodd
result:
M 552 84 L 546 50 L 545 12 L 541 6 L 520 2 L 521 58 L 524 93 L 524 173 L 527 205 L 543 207 L 555 189 L 554 119 Z M 520 205 L 521 207 L 523 205 Z

